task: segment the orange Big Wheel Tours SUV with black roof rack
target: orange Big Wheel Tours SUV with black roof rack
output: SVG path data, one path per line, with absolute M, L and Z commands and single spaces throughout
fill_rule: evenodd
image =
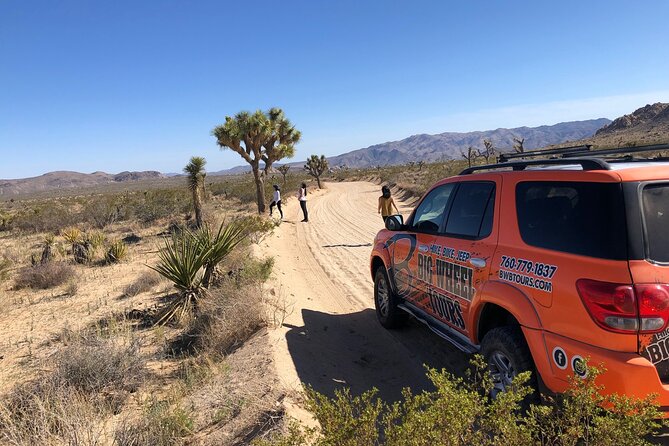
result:
M 629 155 L 659 150 L 534 151 L 439 181 L 376 236 L 380 323 L 480 352 L 496 392 L 526 370 L 564 391 L 588 358 L 607 392 L 668 412 L 669 159 Z

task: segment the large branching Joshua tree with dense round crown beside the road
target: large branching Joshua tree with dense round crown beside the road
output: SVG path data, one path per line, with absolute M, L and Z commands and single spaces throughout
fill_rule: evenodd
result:
M 295 144 L 302 136 L 280 108 L 267 112 L 239 112 L 234 118 L 225 117 L 225 124 L 214 128 L 212 134 L 221 149 L 237 152 L 251 165 L 256 183 L 258 213 L 265 212 L 264 179 L 275 161 L 292 158 Z M 261 170 L 260 162 L 264 163 Z

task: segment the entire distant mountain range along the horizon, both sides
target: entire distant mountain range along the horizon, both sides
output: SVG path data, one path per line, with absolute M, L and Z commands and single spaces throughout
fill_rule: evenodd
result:
M 542 147 L 593 144 L 598 147 L 620 147 L 654 143 L 669 143 L 669 104 L 649 104 L 614 121 L 591 119 L 562 122 L 540 127 L 518 127 L 468 133 L 440 133 L 413 135 L 400 141 L 376 144 L 328 158 L 330 166 L 351 168 L 404 164 L 411 161 L 437 161 L 461 158 L 469 146 L 483 147 L 483 140 L 490 140 L 496 149 L 513 150 L 513 138 L 524 139 L 525 150 Z M 289 163 L 301 169 L 304 162 Z M 209 175 L 241 174 L 249 171 L 248 165 L 228 170 L 209 172 Z M 39 177 L 20 180 L 0 180 L 0 197 L 75 187 L 97 186 L 110 183 L 141 181 L 180 174 L 162 174 L 156 171 L 121 172 L 108 174 L 94 172 L 50 172 Z

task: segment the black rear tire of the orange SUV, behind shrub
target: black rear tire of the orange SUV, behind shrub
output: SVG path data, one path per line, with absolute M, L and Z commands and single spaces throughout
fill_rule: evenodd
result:
M 491 391 L 493 398 L 499 392 L 503 392 L 516 375 L 529 371 L 532 375 L 527 385 L 532 389 L 532 393 L 525 399 L 525 404 L 537 401 L 539 396 L 537 372 L 520 327 L 507 326 L 490 330 L 481 342 L 481 354 L 488 364 L 493 379 L 494 388 Z

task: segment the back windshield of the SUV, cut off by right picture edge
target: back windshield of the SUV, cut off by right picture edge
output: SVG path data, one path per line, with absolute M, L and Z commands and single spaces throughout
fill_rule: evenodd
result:
M 669 262 L 669 184 L 653 184 L 641 192 L 646 232 L 646 256 Z

